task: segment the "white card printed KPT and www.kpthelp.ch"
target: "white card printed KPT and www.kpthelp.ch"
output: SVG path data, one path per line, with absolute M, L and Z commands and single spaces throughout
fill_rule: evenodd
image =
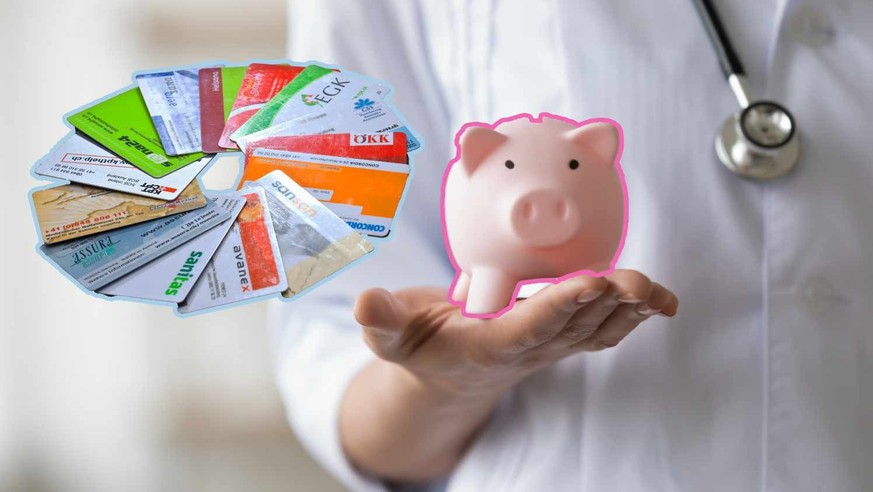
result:
M 36 163 L 33 172 L 132 195 L 173 200 L 210 162 L 212 157 L 204 157 L 163 178 L 153 178 L 88 137 L 70 133 Z

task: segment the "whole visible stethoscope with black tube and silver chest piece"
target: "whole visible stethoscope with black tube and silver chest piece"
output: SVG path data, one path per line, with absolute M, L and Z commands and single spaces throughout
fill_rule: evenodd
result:
M 740 111 L 728 116 L 715 137 L 715 153 L 744 178 L 767 181 L 790 173 L 800 156 L 794 116 L 773 101 L 750 102 L 746 72 L 710 0 L 693 0 Z

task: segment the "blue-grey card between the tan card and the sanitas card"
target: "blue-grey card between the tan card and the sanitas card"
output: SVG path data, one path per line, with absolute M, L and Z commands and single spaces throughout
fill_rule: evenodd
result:
M 224 222 L 230 213 L 205 207 L 59 244 L 43 244 L 46 258 L 94 291 Z

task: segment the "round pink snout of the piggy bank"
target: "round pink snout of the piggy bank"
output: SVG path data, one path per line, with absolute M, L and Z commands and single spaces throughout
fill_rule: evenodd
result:
M 512 204 L 513 233 L 524 244 L 558 246 L 579 232 L 582 218 L 576 202 L 560 190 L 525 193 Z

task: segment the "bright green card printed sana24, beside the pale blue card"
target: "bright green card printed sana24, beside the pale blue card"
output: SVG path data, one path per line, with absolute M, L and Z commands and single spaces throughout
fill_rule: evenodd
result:
M 98 101 L 70 115 L 67 121 L 154 178 L 166 176 L 206 155 L 196 152 L 168 156 L 138 87 Z

